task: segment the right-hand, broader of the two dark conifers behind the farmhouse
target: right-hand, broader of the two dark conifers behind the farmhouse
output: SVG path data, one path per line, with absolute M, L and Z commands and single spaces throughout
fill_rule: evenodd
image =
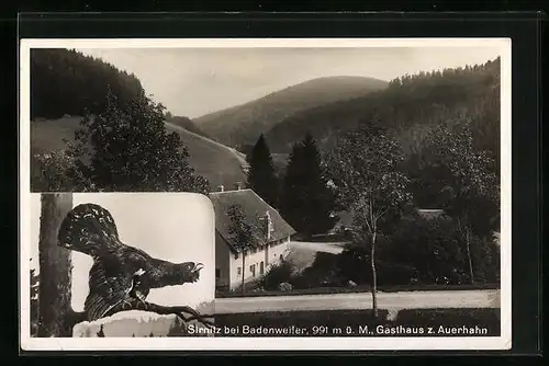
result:
M 299 232 L 311 237 L 332 229 L 337 220 L 335 194 L 327 185 L 316 141 L 310 133 L 293 146 L 282 184 L 280 210 Z

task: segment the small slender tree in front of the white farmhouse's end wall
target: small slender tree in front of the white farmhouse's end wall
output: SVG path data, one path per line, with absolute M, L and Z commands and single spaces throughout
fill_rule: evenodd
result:
M 255 243 L 255 222 L 247 222 L 246 216 L 239 205 L 233 205 L 228 208 L 228 235 L 236 251 L 242 255 L 242 293 L 245 293 L 245 273 L 246 273 L 246 251 Z

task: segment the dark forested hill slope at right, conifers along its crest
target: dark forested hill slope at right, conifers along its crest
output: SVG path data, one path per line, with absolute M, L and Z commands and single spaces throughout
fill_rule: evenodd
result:
M 266 138 L 272 152 L 289 152 L 294 141 L 311 131 L 321 145 L 329 146 L 343 131 L 366 122 L 397 128 L 408 137 L 422 127 L 445 119 L 458 110 L 481 123 L 480 137 L 497 150 L 500 134 L 500 59 L 484 65 L 403 76 L 384 90 L 352 100 L 324 104 L 298 112 L 273 126 Z

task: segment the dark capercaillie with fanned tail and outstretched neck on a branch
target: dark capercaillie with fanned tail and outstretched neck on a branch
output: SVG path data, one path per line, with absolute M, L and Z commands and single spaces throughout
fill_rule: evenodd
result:
M 152 288 L 195 283 L 202 263 L 171 263 L 123 243 L 112 215 L 96 204 L 72 208 L 58 232 L 63 248 L 93 259 L 89 294 L 85 301 L 88 321 L 123 310 L 147 310 Z

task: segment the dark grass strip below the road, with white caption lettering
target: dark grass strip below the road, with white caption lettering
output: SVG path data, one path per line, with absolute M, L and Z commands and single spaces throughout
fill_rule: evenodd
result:
M 322 310 L 216 314 L 217 336 L 497 336 L 500 309 Z M 254 332 L 251 334 L 250 332 Z M 467 332 L 467 333 L 466 333 Z

